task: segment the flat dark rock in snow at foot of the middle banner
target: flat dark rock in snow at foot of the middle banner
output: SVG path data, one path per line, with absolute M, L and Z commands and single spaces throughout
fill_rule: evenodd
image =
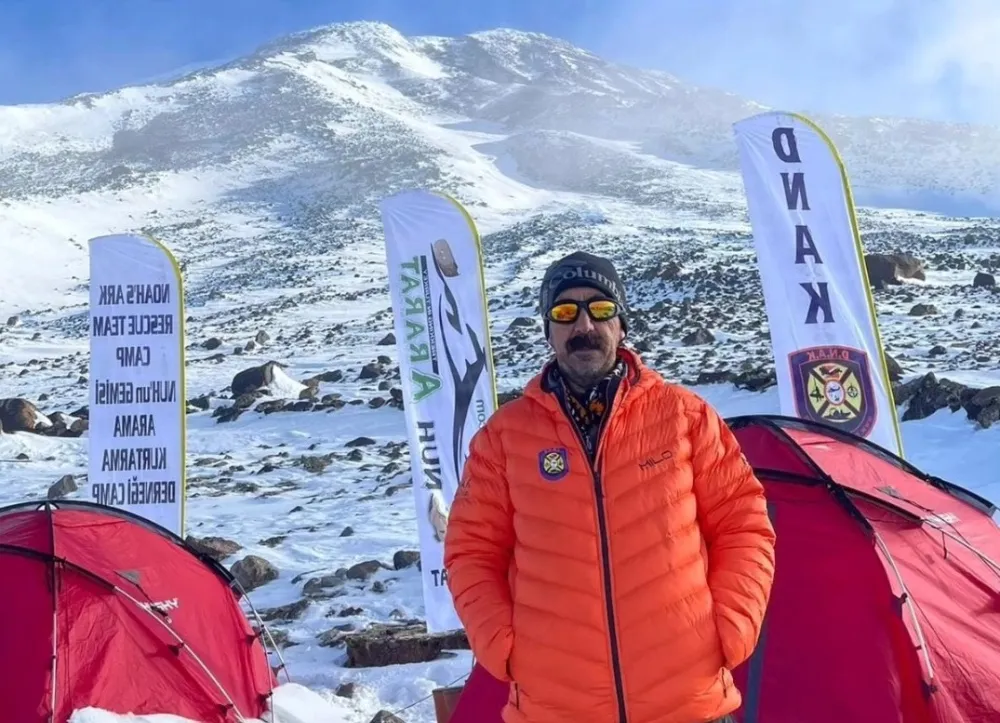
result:
M 464 630 L 448 633 L 427 632 L 422 623 L 374 624 L 344 636 L 347 667 L 371 668 L 436 660 L 444 650 L 468 650 Z

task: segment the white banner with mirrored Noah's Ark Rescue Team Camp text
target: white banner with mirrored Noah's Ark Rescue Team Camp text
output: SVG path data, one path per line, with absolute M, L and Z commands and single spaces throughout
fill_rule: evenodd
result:
M 90 463 L 84 495 L 184 534 L 184 290 L 174 257 L 90 240 Z

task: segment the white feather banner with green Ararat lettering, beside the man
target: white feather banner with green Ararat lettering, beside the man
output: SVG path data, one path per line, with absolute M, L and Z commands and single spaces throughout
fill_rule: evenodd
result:
M 496 409 L 482 246 L 459 203 L 427 191 L 382 202 L 430 632 L 458 630 L 444 535 L 469 441 Z

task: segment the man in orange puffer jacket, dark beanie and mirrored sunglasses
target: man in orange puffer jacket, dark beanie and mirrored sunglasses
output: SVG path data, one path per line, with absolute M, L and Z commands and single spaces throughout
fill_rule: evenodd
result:
M 612 264 L 541 289 L 555 353 L 475 435 L 445 538 L 508 723 L 704 723 L 741 703 L 774 575 L 764 491 L 719 416 L 622 346 Z

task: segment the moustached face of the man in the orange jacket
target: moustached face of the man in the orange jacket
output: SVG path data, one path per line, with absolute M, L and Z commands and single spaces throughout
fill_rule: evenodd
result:
M 560 301 L 587 302 L 607 298 L 596 289 L 580 287 L 566 289 L 553 305 Z M 559 368 L 571 384 L 582 389 L 592 386 L 611 371 L 624 336 L 620 318 L 594 321 L 586 307 L 580 309 L 572 324 L 549 322 L 549 344 L 555 351 Z

